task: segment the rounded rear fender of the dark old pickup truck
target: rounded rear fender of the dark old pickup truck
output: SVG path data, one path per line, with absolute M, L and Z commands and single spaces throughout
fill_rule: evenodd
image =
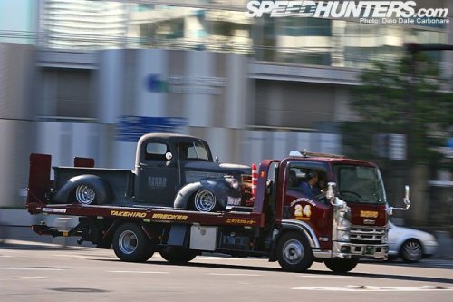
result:
M 99 176 L 83 174 L 72 177 L 53 197 L 53 203 L 72 203 L 75 200 L 74 191 L 80 185 L 88 185 L 95 191 L 96 198 L 93 203 L 103 204 L 111 201 L 111 187 Z

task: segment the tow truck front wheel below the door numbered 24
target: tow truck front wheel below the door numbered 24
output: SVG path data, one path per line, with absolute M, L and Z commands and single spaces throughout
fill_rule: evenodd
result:
M 286 271 L 301 273 L 313 264 L 312 248 L 301 233 L 285 233 L 276 248 L 278 263 Z

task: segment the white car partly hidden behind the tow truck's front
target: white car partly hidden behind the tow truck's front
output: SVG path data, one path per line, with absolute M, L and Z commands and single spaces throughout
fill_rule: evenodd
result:
M 418 262 L 436 252 L 438 242 L 431 234 L 419 229 L 395 226 L 389 222 L 389 256 L 405 262 Z

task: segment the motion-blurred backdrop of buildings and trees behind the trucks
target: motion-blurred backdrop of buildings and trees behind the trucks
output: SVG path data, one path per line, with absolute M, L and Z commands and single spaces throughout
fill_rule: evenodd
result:
M 390 205 L 411 185 L 397 218 L 451 230 L 453 52 L 403 46 L 453 44 L 453 2 L 417 1 L 448 24 L 249 18 L 247 2 L 0 0 L 0 207 L 24 207 L 31 152 L 133 170 L 140 134 L 179 132 L 222 162 L 374 161 Z

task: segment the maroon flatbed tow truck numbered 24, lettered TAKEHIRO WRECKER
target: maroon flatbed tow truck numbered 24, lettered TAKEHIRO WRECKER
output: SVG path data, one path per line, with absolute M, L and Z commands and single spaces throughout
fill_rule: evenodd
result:
M 82 175 L 100 171 L 92 168 L 92 159 L 76 158 L 74 166 L 83 170 Z M 313 172 L 325 182 L 315 197 L 300 190 Z M 78 236 L 80 243 L 112 247 L 120 260 L 130 262 L 147 261 L 159 252 L 170 263 L 186 263 L 201 253 L 216 252 L 269 258 L 292 272 L 304 272 L 317 261 L 344 273 L 361 258 L 387 259 L 388 217 L 393 209 L 410 207 L 409 187 L 405 208 L 389 206 L 375 164 L 323 153 L 298 151 L 283 160 L 261 161 L 255 195 L 247 195 L 249 185 L 241 184 L 238 188 L 245 191 L 246 202 L 216 211 L 162 206 L 159 195 L 147 203 L 130 198 L 102 204 L 54 203 L 55 188 L 62 187 L 50 176 L 51 157 L 31 154 L 28 211 L 75 216 L 79 223 L 69 230 L 43 223 L 32 229 L 40 235 Z M 123 184 L 122 190 L 128 186 Z

